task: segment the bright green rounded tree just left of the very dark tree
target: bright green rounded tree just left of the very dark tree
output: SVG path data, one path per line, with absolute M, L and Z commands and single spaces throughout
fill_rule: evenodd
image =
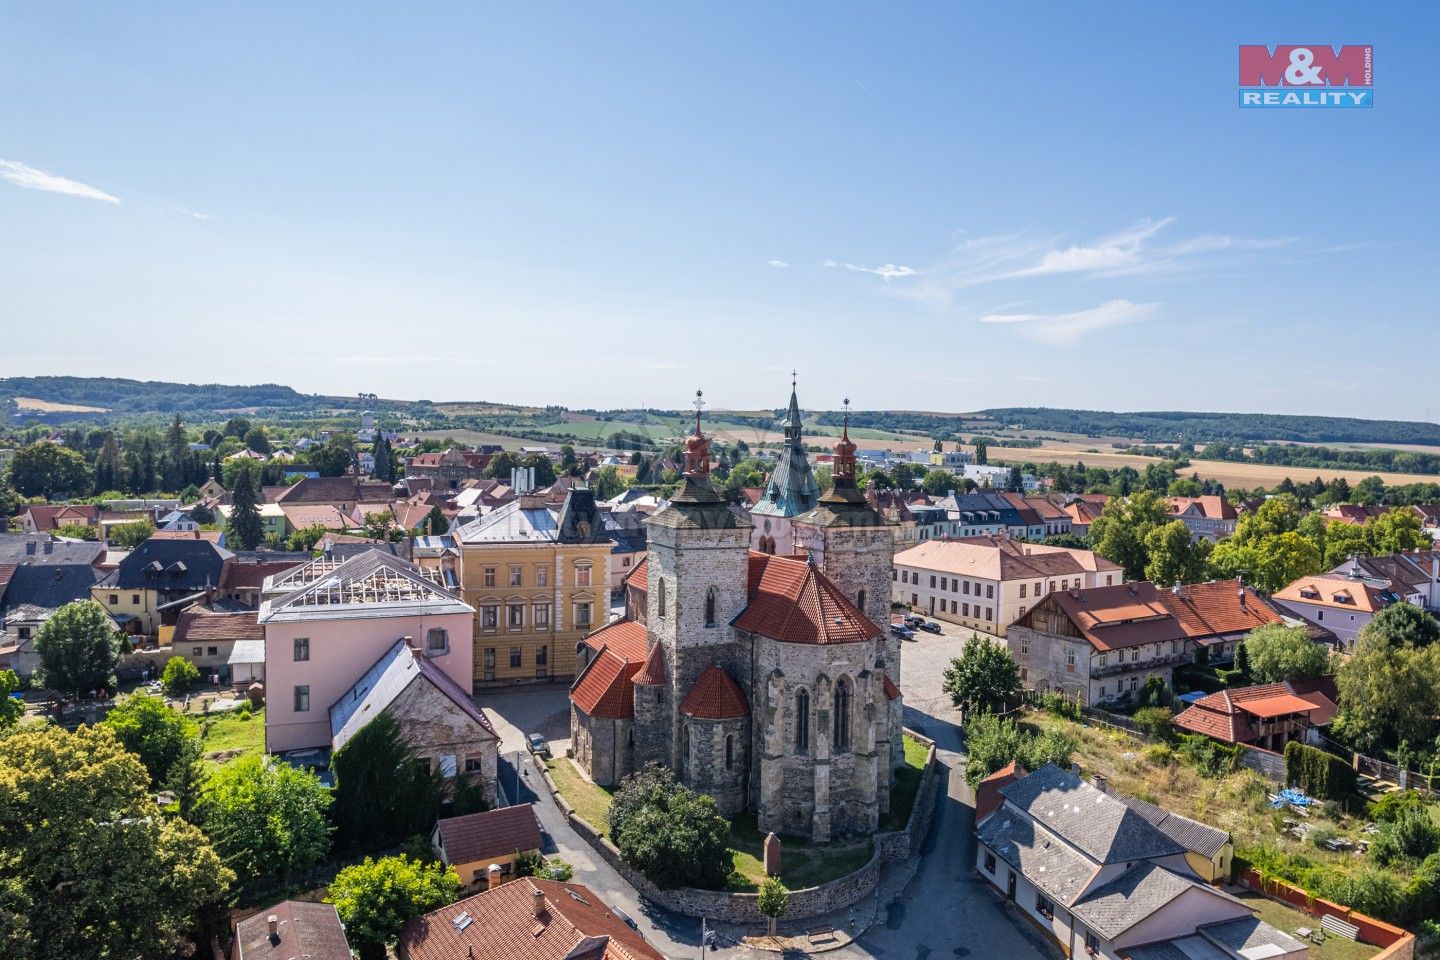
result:
M 204 832 L 245 879 L 285 877 L 330 853 L 330 790 L 315 774 L 271 757 L 220 767 L 200 803 Z

